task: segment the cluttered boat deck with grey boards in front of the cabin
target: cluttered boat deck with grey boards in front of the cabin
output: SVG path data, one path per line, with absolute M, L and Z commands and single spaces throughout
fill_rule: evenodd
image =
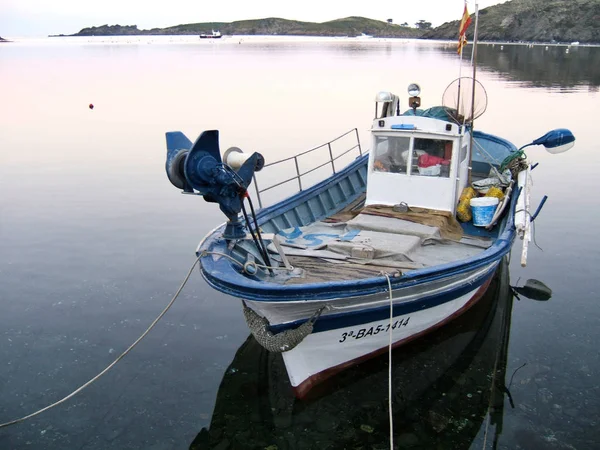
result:
M 302 269 L 280 282 L 356 280 L 455 262 L 490 247 L 495 234 L 459 224 L 445 212 L 400 212 L 357 201 L 323 221 L 278 233 L 290 263 Z M 273 244 L 269 250 L 278 259 Z

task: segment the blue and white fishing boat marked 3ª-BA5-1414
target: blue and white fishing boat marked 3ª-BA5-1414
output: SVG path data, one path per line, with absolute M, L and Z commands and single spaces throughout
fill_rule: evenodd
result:
M 398 96 L 376 95 L 368 152 L 356 130 L 345 135 L 356 143 L 339 155 L 332 141 L 271 164 L 237 147 L 221 156 L 217 130 L 194 143 L 181 132 L 166 135 L 172 184 L 217 203 L 228 218 L 196 250 L 204 279 L 242 300 L 250 331 L 282 353 L 298 397 L 463 314 L 485 293 L 516 236 L 525 264 L 543 202 L 532 212 L 523 148 L 559 153 L 574 144 L 566 129 L 520 149 L 474 130 L 487 101 L 472 79 L 452 82 L 441 107 L 420 109 L 420 87 L 408 90 L 404 113 Z M 319 151 L 328 153 L 332 174 L 306 188 L 312 170 L 300 172 L 298 158 Z M 338 168 L 352 151 L 357 157 Z M 257 172 L 277 172 L 283 162 L 294 163 L 285 181 L 297 182 L 299 192 L 265 206 L 261 194 L 282 183 L 261 189 Z

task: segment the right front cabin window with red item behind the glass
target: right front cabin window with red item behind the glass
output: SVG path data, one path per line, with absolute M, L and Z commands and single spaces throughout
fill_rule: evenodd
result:
M 449 178 L 451 160 L 452 141 L 415 138 L 411 175 Z

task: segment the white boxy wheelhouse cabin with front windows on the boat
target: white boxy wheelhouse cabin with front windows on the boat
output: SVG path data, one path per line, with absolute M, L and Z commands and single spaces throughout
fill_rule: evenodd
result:
M 469 176 L 470 133 L 464 130 L 430 117 L 376 118 L 366 204 L 406 203 L 454 214 Z

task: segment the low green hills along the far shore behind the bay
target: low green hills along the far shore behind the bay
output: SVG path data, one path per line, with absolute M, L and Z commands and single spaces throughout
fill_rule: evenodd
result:
M 473 11 L 471 11 L 473 12 Z M 457 11 L 460 19 L 460 11 Z M 218 30 L 223 35 L 361 36 L 377 38 L 456 39 L 459 20 L 432 28 L 420 20 L 415 27 L 364 17 L 347 17 L 328 22 L 301 22 L 280 18 L 203 22 L 167 28 L 140 30 L 136 25 L 102 25 L 83 28 L 72 35 L 132 36 L 194 35 Z M 467 31 L 473 39 L 474 26 Z M 479 40 L 525 42 L 600 43 L 600 0 L 512 0 L 479 12 Z

